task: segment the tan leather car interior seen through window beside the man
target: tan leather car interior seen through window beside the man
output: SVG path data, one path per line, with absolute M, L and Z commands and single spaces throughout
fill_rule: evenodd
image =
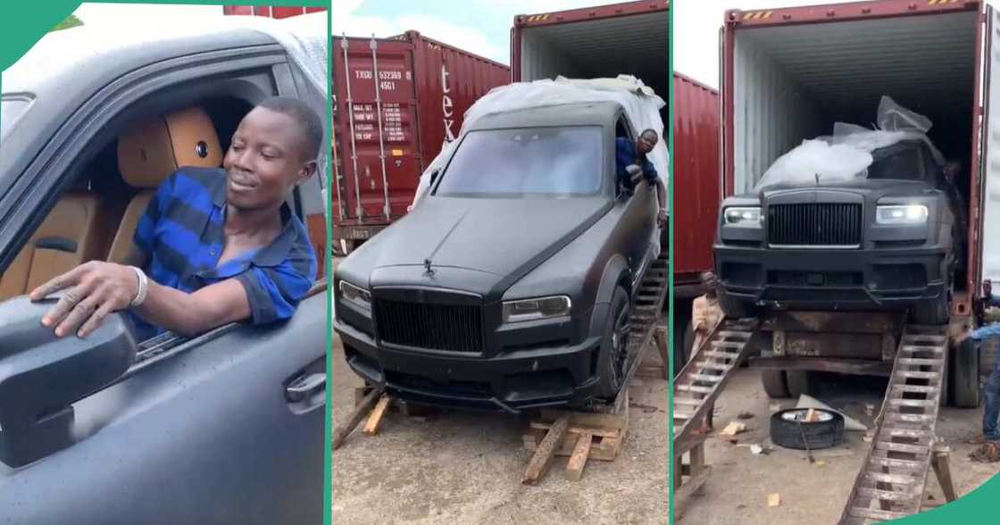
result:
M 179 166 L 220 167 L 251 105 L 211 97 L 129 121 L 86 161 L 0 274 L 0 301 L 92 260 L 124 261 L 156 188 Z

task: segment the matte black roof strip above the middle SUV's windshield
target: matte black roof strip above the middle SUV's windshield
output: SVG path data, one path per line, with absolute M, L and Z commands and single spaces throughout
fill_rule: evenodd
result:
M 603 126 L 609 123 L 614 125 L 614 119 L 621 111 L 621 104 L 613 101 L 529 107 L 484 115 L 470 130 L 530 126 Z

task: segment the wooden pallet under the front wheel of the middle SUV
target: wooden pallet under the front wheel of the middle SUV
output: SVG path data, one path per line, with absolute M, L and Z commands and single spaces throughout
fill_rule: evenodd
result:
M 618 414 L 543 410 L 521 436 L 524 448 L 535 452 L 522 483 L 534 485 L 555 456 L 569 456 L 566 478 L 583 476 L 588 459 L 614 461 L 628 433 L 628 394 Z

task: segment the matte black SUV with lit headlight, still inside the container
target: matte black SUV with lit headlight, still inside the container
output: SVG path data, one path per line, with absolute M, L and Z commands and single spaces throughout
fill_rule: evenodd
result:
M 958 193 L 922 141 L 872 156 L 850 182 L 776 184 L 723 201 L 714 252 L 727 316 L 886 308 L 947 321 L 964 238 Z

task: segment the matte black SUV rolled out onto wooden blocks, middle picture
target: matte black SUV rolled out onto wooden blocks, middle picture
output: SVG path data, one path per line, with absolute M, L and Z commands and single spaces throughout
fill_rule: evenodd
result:
M 614 397 L 659 233 L 655 185 L 616 181 L 618 137 L 635 130 L 613 102 L 478 120 L 428 196 L 336 270 L 354 372 L 510 412 Z

